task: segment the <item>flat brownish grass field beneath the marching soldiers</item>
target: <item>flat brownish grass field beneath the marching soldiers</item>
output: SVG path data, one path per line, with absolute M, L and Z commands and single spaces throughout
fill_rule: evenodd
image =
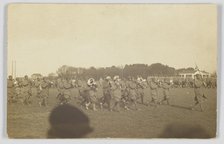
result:
M 56 106 L 55 89 L 50 89 L 49 106 L 39 107 L 38 99 L 32 97 L 31 106 L 18 103 L 8 104 L 7 132 L 11 138 L 46 138 L 50 128 L 48 121 L 51 111 Z M 194 90 L 174 88 L 170 90 L 170 104 L 154 108 L 138 104 L 140 110 L 109 112 L 106 109 L 92 111 L 81 109 L 76 99 L 71 104 L 80 108 L 90 119 L 93 132 L 87 138 L 157 138 L 168 125 L 177 123 L 199 125 L 210 137 L 216 135 L 216 89 L 205 89 L 208 100 L 205 111 L 192 111 Z M 77 90 L 73 90 L 73 97 Z M 161 99 L 162 91 L 159 90 Z M 145 89 L 145 100 L 151 99 L 150 90 Z M 186 127 L 180 127 L 180 131 Z

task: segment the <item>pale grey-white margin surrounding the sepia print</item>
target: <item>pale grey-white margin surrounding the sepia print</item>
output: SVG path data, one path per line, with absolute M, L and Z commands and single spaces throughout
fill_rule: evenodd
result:
M 7 5 L 10 3 L 155 3 L 155 4 L 196 4 L 211 3 L 218 6 L 218 53 L 217 53 L 217 137 L 213 139 L 9 139 L 7 137 L 7 100 L 6 100 L 6 75 L 7 75 Z M 2 144 L 74 144 L 74 143 L 94 143 L 94 144 L 222 144 L 224 143 L 224 93 L 222 90 L 224 78 L 223 72 L 223 44 L 222 35 L 224 30 L 222 24 L 223 0 L 1 0 L 0 2 L 0 143 Z

